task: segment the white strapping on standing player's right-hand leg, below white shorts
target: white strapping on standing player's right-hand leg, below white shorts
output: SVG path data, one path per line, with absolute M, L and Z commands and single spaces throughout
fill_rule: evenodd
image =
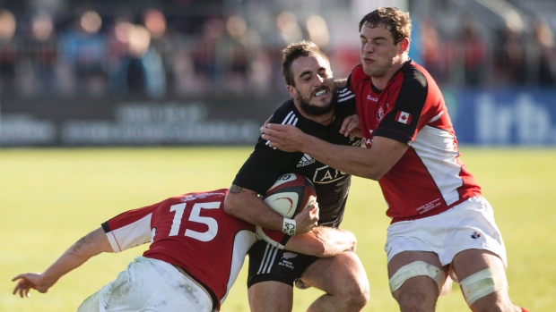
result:
M 482 299 L 493 292 L 508 288 L 506 274 L 502 270 L 484 269 L 467 276 L 460 282 L 467 305 L 471 307 L 477 299 Z M 504 300 L 496 300 L 503 302 Z

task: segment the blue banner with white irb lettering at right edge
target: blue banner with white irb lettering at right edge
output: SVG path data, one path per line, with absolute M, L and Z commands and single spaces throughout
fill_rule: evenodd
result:
M 444 91 L 459 143 L 556 145 L 556 89 Z

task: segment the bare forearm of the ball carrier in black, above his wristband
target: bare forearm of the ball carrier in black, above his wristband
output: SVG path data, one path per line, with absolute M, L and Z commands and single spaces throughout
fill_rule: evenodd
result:
M 255 192 L 232 185 L 226 199 L 224 210 L 243 221 L 256 224 L 265 229 L 282 231 L 283 217 L 268 207 Z

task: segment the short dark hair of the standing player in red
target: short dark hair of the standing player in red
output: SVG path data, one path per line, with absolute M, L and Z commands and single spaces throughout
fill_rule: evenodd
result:
M 375 27 L 386 26 L 390 30 L 394 43 L 397 44 L 403 38 L 412 38 L 412 20 L 409 13 L 400 11 L 396 7 L 381 7 L 365 15 L 359 22 L 359 31 L 363 26 L 374 29 Z

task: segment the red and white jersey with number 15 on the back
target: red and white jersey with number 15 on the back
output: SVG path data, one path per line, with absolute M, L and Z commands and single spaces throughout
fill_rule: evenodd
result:
M 127 211 L 102 223 L 119 252 L 152 242 L 143 257 L 180 266 L 216 296 L 217 308 L 256 241 L 255 225 L 228 215 L 228 189 L 188 193 Z

